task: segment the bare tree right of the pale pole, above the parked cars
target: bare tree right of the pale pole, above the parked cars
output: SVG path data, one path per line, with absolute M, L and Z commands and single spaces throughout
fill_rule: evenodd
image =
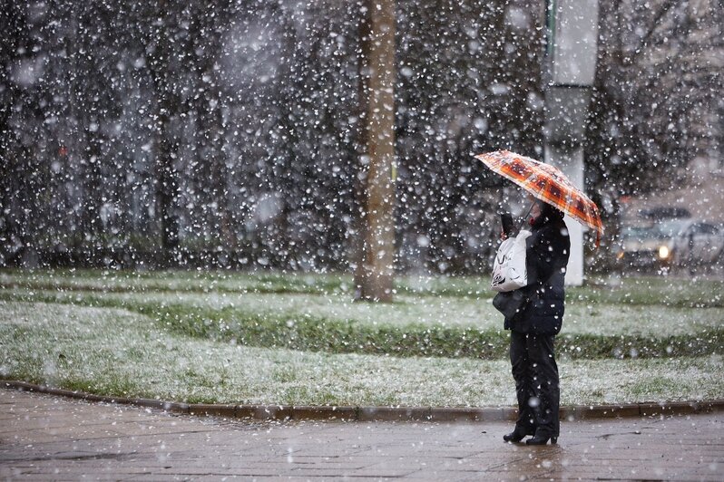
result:
M 676 182 L 711 147 L 724 95 L 722 10 L 718 0 L 602 2 L 587 159 L 613 198 Z

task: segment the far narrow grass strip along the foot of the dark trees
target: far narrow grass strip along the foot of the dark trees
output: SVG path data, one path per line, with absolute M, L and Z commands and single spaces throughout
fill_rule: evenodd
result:
M 396 276 L 398 294 L 491 296 L 489 276 Z M 303 293 L 353 292 L 348 274 L 298 274 L 205 270 L 0 270 L 0 286 L 31 289 L 95 290 L 103 292 Z M 724 280 L 698 277 L 610 275 L 593 276 L 583 287 L 569 287 L 568 300 L 585 304 L 644 304 L 670 307 L 724 308 Z

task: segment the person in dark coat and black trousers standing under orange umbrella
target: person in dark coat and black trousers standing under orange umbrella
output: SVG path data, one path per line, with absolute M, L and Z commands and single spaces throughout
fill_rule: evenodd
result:
M 518 420 L 506 442 L 545 445 L 560 434 L 560 388 L 553 342 L 563 324 L 565 269 L 571 251 L 563 212 L 536 199 L 531 208 L 531 236 L 525 243 L 528 284 L 519 288 L 527 300 L 506 317 L 510 360 L 518 399 Z

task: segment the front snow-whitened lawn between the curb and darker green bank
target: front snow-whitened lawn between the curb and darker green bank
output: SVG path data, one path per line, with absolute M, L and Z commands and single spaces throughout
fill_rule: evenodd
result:
M 559 362 L 563 404 L 724 397 L 720 355 Z M 242 346 L 118 308 L 0 302 L 0 377 L 190 402 L 511 406 L 509 363 Z

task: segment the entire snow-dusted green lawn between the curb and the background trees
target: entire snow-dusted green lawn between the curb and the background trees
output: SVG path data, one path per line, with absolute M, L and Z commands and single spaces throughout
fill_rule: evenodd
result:
M 164 400 L 513 405 L 487 279 L 398 284 L 395 303 L 365 304 L 347 275 L 0 271 L 0 376 Z M 569 290 L 563 402 L 722 398 L 721 292 Z

